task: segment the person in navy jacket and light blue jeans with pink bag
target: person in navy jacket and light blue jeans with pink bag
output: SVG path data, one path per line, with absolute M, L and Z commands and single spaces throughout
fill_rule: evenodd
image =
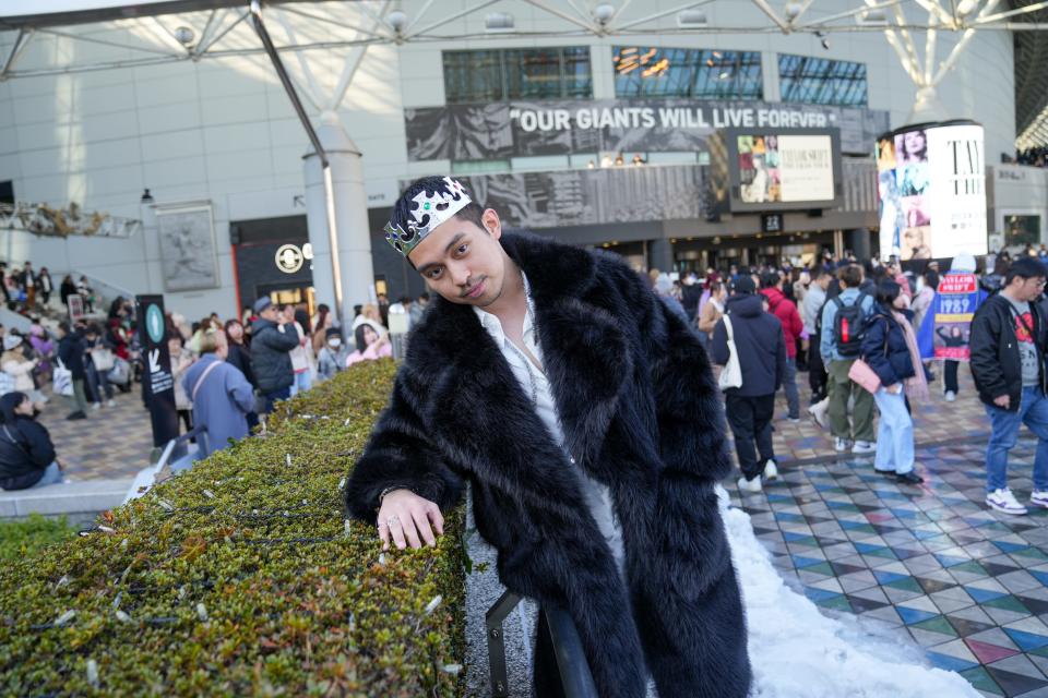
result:
M 925 480 L 914 472 L 914 420 L 906 409 L 906 398 L 927 400 L 928 383 L 909 324 L 914 313 L 907 305 L 900 284 L 885 278 L 878 285 L 861 356 L 881 380 L 873 394 L 881 412 L 873 468 L 883 476 L 894 476 L 902 484 L 920 484 Z

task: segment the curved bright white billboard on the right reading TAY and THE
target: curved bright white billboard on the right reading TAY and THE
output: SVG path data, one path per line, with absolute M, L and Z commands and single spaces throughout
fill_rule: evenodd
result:
M 982 127 L 906 127 L 877 141 L 881 256 L 986 254 Z

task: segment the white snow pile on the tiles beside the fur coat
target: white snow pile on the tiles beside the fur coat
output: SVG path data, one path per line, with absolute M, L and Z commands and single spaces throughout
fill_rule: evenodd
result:
M 958 674 L 922 665 L 905 630 L 822 615 L 779 577 L 750 517 L 718 494 L 746 606 L 752 698 L 979 698 Z

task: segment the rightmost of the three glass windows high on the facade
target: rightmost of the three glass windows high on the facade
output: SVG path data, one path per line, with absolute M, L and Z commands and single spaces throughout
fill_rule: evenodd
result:
M 866 64 L 810 56 L 778 56 L 783 101 L 866 106 Z

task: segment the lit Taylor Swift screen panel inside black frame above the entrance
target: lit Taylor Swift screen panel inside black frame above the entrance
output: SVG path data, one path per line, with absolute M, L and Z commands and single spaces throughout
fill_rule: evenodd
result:
M 742 203 L 833 202 L 830 135 L 740 135 L 737 145 Z

